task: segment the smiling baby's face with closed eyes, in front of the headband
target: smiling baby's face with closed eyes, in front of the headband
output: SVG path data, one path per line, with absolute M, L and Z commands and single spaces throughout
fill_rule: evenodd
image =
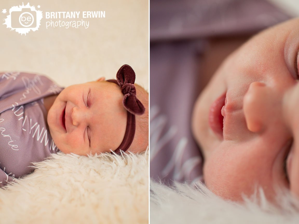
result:
M 48 112 L 50 134 L 64 153 L 113 151 L 126 131 L 123 94 L 111 82 L 72 85 L 57 96 Z

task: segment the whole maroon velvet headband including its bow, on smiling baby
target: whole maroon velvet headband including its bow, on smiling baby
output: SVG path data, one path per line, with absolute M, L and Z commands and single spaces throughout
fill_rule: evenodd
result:
M 135 72 L 129 65 L 123 65 L 116 73 L 116 80 L 109 79 L 107 82 L 113 82 L 117 84 L 121 92 L 123 93 L 123 107 L 127 111 L 127 126 L 126 132 L 123 137 L 123 141 L 118 148 L 114 151 L 120 153 L 120 150 L 127 151 L 133 142 L 135 135 L 135 115 L 141 115 L 144 113 L 145 108 L 142 103 L 136 97 L 135 88 Z

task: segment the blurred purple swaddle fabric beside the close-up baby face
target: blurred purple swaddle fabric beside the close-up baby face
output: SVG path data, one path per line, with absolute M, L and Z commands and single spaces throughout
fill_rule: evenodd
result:
M 260 0 L 150 1 L 150 176 L 165 184 L 202 180 L 191 133 L 205 41 L 253 34 L 291 17 Z

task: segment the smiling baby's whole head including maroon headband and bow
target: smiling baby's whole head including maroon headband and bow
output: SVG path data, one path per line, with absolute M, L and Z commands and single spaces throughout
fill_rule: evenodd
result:
M 132 85 L 135 73 L 129 65 L 122 66 L 118 75 L 123 78 L 120 82 L 100 78 L 69 86 L 57 96 L 47 121 L 51 137 L 62 152 L 86 155 L 110 149 L 146 150 L 148 93 Z

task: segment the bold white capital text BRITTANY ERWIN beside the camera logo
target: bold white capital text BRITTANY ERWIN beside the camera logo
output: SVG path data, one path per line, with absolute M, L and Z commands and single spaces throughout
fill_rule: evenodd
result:
M 74 12 L 46 12 L 46 19 L 78 19 L 80 11 Z M 82 18 L 105 18 L 105 11 L 83 11 Z

